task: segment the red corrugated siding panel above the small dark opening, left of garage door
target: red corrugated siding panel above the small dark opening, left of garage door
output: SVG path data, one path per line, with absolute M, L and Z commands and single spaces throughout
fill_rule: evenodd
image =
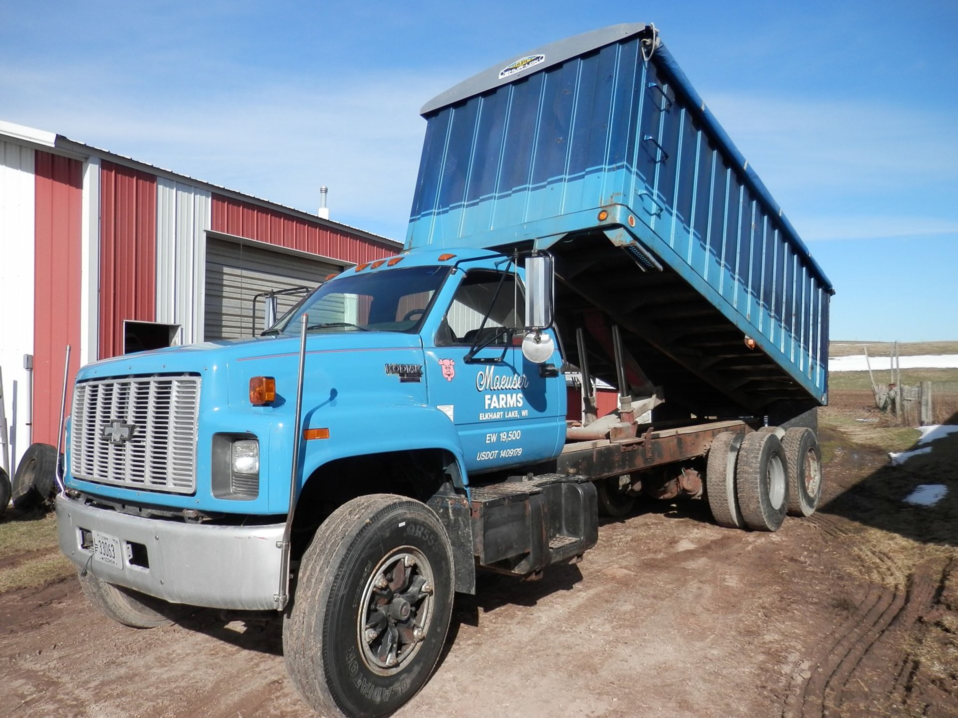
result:
M 123 323 L 156 321 L 156 177 L 103 162 L 100 358 L 123 353 Z

